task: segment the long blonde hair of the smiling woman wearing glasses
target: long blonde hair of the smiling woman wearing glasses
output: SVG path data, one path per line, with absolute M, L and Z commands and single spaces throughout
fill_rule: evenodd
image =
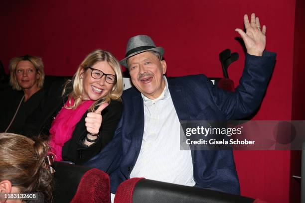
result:
M 72 80 L 67 81 L 65 84 L 65 88 L 63 90 L 63 95 L 65 92 L 68 92 L 68 89 L 72 86 L 73 90 L 70 94 L 68 94 L 69 105 L 65 105 L 65 108 L 75 109 L 82 102 L 83 95 L 83 80 L 80 79 L 81 73 L 83 70 L 86 71 L 88 67 L 92 67 L 94 64 L 100 61 L 106 61 L 111 66 L 111 68 L 116 73 L 116 83 L 113 85 L 112 90 L 100 100 L 94 102 L 90 110 L 93 111 L 94 108 L 102 103 L 109 103 L 110 100 L 118 100 L 121 101 L 121 96 L 123 93 L 123 75 L 120 64 L 118 60 L 108 51 L 104 51 L 101 49 L 94 50 L 90 54 L 86 56 L 83 62 L 79 65 L 75 75 Z M 74 103 L 72 105 L 71 98 L 74 99 Z

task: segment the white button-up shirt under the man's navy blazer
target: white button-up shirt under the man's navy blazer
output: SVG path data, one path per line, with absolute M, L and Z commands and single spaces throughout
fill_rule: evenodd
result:
M 144 135 L 130 178 L 194 186 L 190 150 L 180 150 L 180 122 L 170 97 L 168 84 L 155 100 L 144 101 Z

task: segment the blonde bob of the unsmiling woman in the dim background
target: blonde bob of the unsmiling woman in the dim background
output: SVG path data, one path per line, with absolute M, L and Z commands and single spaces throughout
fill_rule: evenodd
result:
M 33 66 L 36 68 L 36 72 L 39 73 L 39 79 L 37 80 L 37 86 L 38 86 L 38 88 L 42 88 L 43 81 L 44 81 L 44 70 L 43 70 L 42 59 L 37 56 L 24 55 L 24 56 L 18 56 L 18 57 L 12 58 L 9 61 L 9 73 L 10 73 L 9 83 L 10 83 L 12 89 L 22 90 L 22 88 L 19 86 L 19 84 L 16 80 L 16 75 L 15 75 L 15 70 L 16 70 L 17 64 L 20 61 L 29 61 L 33 64 Z

